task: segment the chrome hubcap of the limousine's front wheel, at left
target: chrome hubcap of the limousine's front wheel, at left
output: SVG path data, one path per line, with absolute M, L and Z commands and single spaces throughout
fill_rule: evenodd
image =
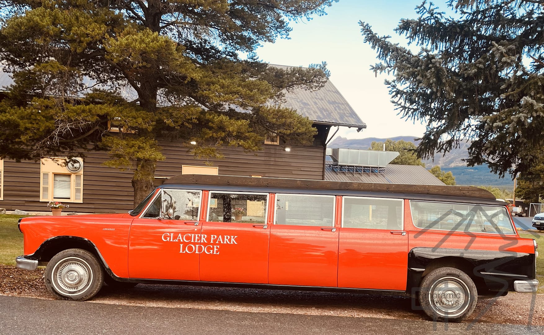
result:
M 81 258 L 69 257 L 59 261 L 53 270 L 53 284 L 59 293 L 77 295 L 90 287 L 92 271 Z

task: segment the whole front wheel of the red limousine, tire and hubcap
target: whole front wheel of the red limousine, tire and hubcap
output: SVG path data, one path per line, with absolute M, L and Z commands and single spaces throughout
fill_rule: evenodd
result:
M 83 249 L 66 249 L 45 268 L 45 286 L 58 300 L 84 301 L 104 284 L 104 271 L 95 255 Z

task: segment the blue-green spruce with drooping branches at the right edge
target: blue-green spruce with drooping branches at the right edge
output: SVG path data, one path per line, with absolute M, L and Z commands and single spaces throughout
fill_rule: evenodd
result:
M 419 47 L 405 48 L 360 22 L 378 52 L 373 71 L 386 80 L 406 119 L 425 120 L 418 155 L 472 141 L 469 166 L 487 163 L 504 175 L 528 171 L 544 147 L 544 1 L 449 0 L 452 18 L 432 3 L 395 31 Z

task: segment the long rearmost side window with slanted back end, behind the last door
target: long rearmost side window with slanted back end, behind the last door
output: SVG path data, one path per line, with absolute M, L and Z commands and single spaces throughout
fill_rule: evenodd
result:
M 505 207 L 410 201 L 416 227 L 459 232 L 515 234 Z

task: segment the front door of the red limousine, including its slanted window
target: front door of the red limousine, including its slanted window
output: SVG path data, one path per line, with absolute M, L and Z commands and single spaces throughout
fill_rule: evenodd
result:
M 131 278 L 198 281 L 202 191 L 157 192 L 132 221 L 128 246 Z

